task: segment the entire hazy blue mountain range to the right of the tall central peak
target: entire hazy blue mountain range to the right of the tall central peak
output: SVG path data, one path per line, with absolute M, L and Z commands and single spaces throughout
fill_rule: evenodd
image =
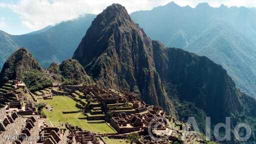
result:
M 246 7 L 195 8 L 174 2 L 131 13 L 153 39 L 207 56 L 221 64 L 242 91 L 256 95 L 256 12 Z

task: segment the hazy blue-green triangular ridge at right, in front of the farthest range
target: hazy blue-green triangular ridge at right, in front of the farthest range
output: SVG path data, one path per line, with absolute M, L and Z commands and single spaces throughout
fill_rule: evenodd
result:
M 205 55 L 221 64 L 236 85 L 254 94 L 256 83 L 256 45 L 225 22 L 212 23 L 184 49 Z

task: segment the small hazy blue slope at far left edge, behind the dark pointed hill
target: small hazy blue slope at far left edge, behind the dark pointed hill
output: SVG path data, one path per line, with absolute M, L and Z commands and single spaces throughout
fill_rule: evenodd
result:
M 0 69 L 4 61 L 17 49 L 17 45 L 10 38 L 10 35 L 4 31 L 0 30 Z

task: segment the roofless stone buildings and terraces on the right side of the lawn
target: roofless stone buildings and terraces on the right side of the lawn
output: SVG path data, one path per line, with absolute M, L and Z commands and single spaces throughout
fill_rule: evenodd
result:
M 59 91 L 70 94 L 70 97 L 78 102 L 76 106 L 84 109 L 87 120 L 109 122 L 117 131 L 117 135 L 108 135 L 109 137 L 125 138 L 128 133 L 137 132 L 141 135 L 141 141 L 145 143 L 203 142 L 200 135 L 196 134 L 180 139 L 183 132 L 191 130 L 191 126 L 176 120 L 159 106 L 145 104 L 137 93 L 116 91 L 97 85 L 65 85 Z M 81 132 L 81 129 L 69 124 L 66 124 L 66 127 L 72 131 L 68 137 L 69 143 L 82 143 L 80 140 L 88 135 L 92 138 L 92 143 L 96 142 L 88 131 Z M 150 134 L 164 140 L 148 138 Z

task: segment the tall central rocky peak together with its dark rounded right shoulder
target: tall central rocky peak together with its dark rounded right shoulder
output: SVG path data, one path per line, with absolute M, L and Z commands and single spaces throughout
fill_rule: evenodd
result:
M 144 101 L 172 113 L 174 99 L 193 103 L 214 122 L 241 112 L 240 93 L 220 65 L 151 40 L 119 4 L 97 15 L 73 58 L 96 83 L 139 91 Z

